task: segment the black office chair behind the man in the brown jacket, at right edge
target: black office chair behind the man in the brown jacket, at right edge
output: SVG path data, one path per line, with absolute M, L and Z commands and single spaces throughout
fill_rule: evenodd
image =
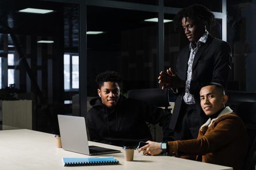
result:
M 236 113 L 243 119 L 249 139 L 243 170 L 255 170 L 256 102 L 240 102 L 236 107 Z

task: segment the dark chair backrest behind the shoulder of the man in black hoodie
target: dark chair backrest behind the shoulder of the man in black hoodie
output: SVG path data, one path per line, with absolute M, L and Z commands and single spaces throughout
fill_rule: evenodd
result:
M 168 89 L 144 88 L 128 90 L 126 97 L 145 101 L 157 107 L 170 106 Z

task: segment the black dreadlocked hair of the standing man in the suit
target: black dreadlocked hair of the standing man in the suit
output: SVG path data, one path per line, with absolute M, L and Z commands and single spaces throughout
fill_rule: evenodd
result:
M 211 29 L 212 26 L 215 25 L 214 14 L 203 5 L 194 4 L 180 10 L 174 17 L 175 30 L 178 30 L 178 28 L 181 27 L 181 20 L 183 17 L 189 17 L 196 24 L 204 24 L 206 26 L 206 30 L 208 31 Z

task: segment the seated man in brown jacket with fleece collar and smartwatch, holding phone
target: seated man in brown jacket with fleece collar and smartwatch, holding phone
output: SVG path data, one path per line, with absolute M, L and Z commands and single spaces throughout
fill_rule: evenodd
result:
M 197 139 L 172 142 L 147 141 L 138 152 L 168 154 L 241 170 L 247 152 L 247 132 L 242 119 L 225 107 L 228 97 L 222 85 L 209 83 L 200 90 L 200 104 L 209 117 L 199 128 Z

